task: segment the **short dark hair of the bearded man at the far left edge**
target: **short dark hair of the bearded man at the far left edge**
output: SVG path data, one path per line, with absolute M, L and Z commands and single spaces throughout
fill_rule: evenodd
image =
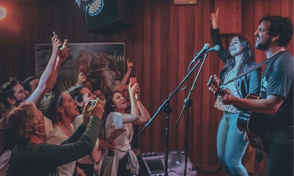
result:
M 0 101 L 7 108 L 10 109 L 11 104 L 7 101 L 8 98 L 15 98 L 13 87 L 19 84 L 15 78 L 10 78 L 9 82 L 3 83 L 0 88 Z

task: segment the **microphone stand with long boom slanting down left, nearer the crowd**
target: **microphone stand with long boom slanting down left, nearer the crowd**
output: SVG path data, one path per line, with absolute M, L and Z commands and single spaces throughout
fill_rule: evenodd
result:
M 194 59 L 197 59 L 194 57 Z M 193 60 L 194 60 L 193 59 Z M 139 132 L 138 135 L 141 135 L 146 128 L 150 125 L 150 123 L 155 119 L 155 117 L 161 112 L 164 111 L 166 113 L 166 155 L 165 155 L 165 161 L 164 161 L 164 167 L 165 167 L 165 175 L 168 175 L 168 153 L 169 153 L 169 115 L 172 111 L 171 107 L 169 106 L 169 102 L 171 98 L 178 92 L 178 89 L 184 84 L 184 82 L 188 79 L 188 77 L 191 75 L 191 73 L 196 69 L 196 67 L 202 62 L 202 58 L 198 60 L 198 62 L 194 65 L 194 67 L 188 72 L 188 74 L 183 78 L 182 82 L 178 85 L 178 87 L 170 94 L 168 99 L 166 99 L 161 106 L 158 108 L 156 113 L 152 116 L 152 118 L 145 124 L 145 126 L 142 128 L 142 130 Z

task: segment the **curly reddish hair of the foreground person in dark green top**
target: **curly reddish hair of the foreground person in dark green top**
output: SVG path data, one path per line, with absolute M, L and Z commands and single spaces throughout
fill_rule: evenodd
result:
M 24 102 L 7 114 L 7 130 L 16 143 L 28 142 L 34 134 L 34 126 L 40 123 L 34 109 L 37 109 L 34 103 Z

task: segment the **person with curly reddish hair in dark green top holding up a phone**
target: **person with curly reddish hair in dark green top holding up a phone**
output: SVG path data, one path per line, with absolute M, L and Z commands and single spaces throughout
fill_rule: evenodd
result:
M 93 151 L 102 114 L 102 106 L 84 110 L 83 124 L 61 145 L 53 145 L 44 143 L 47 138 L 45 129 L 50 124 L 45 123 L 42 112 L 33 103 L 23 103 L 12 109 L 7 127 L 17 145 L 10 156 L 8 175 L 59 175 L 58 166 Z

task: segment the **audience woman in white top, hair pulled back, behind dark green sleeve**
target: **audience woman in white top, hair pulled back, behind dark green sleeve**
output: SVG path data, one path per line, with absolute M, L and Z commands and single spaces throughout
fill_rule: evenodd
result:
M 73 134 L 74 126 L 72 122 L 79 115 L 77 103 L 68 92 L 54 92 L 43 102 L 41 109 L 53 123 L 53 131 L 49 133 L 46 143 L 60 145 Z M 99 161 L 102 153 L 95 147 L 90 157 Z M 59 166 L 59 174 L 61 176 L 72 176 L 75 166 L 76 161 Z

